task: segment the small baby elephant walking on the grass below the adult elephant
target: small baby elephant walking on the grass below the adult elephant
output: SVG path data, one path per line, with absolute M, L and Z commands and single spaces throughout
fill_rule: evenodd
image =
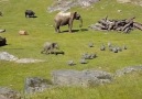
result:
M 59 46 L 57 43 L 45 42 L 43 45 L 43 51 L 41 53 L 52 54 L 54 50 L 59 50 Z

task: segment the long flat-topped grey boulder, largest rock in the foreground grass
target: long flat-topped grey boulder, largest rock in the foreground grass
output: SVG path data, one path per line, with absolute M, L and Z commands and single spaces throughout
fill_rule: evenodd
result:
M 53 84 L 57 86 L 96 86 L 111 82 L 112 75 L 101 70 L 54 70 Z

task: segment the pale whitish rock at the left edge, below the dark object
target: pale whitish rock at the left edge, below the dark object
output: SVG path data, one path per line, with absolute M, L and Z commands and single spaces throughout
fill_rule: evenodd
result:
M 7 52 L 0 52 L 0 59 L 13 62 L 13 61 L 17 61 L 18 57 L 15 57 Z

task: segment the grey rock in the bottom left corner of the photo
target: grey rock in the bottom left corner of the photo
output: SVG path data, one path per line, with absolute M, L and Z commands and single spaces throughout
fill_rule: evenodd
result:
M 21 99 L 21 94 L 8 87 L 0 87 L 0 99 Z

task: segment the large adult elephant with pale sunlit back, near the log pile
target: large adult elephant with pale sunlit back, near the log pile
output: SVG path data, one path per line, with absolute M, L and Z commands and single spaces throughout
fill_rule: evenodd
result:
M 72 28 L 73 28 L 73 21 L 74 20 L 79 20 L 80 21 L 80 28 L 83 26 L 83 19 L 80 16 L 80 14 L 78 12 L 58 12 L 55 18 L 54 18 L 54 21 L 55 21 L 55 31 L 57 33 L 61 32 L 59 30 L 59 26 L 63 26 L 63 25 L 67 25 L 68 24 L 68 30 L 69 32 L 72 33 Z

